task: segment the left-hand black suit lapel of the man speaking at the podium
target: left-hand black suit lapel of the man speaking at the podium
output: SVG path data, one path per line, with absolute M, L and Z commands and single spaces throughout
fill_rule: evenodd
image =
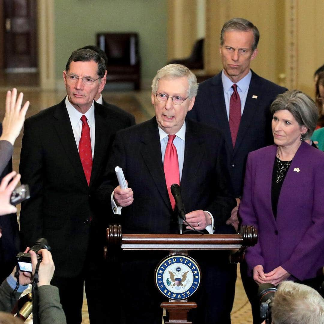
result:
M 168 208 L 171 208 L 163 170 L 161 145 L 155 117 L 151 119 L 141 137 L 141 154 L 149 172 Z

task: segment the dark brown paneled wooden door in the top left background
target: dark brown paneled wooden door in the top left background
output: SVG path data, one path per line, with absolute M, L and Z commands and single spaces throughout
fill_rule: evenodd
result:
M 6 72 L 37 71 L 36 0 L 4 0 Z

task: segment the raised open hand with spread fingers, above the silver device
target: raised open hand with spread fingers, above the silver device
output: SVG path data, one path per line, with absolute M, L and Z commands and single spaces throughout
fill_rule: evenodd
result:
M 0 140 L 6 140 L 14 145 L 16 138 L 24 125 L 25 116 L 29 107 L 29 101 L 26 101 L 21 108 L 24 94 L 20 92 L 18 99 L 17 89 L 13 88 L 12 92 L 8 91 L 6 96 L 6 113 L 2 122 L 2 134 Z

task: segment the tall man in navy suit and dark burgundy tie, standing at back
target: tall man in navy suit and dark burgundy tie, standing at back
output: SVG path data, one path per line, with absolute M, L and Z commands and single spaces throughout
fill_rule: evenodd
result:
M 188 113 L 188 118 L 212 125 L 225 136 L 227 169 L 237 197 L 227 224 L 236 230 L 247 156 L 273 143 L 270 105 L 287 90 L 250 70 L 259 38 L 257 27 L 246 19 L 234 18 L 224 24 L 219 49 L 223 71 L 199 85 L 194 109 Z M 246 265 L 241 263 L 240 269 L 244 284 Z

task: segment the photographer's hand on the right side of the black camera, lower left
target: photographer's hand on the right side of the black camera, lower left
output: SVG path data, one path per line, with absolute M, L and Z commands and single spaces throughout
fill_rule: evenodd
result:
M 31 265 L 33 269 L 33 275 L 35 273 L 37 265 L 37 256 L 35 251 L 29 251 L 31 255 Z M 37 286 L 50 285 L 54 275 L 55 265 L 52 259 L 52 254 L 46 249 L 39 250 L 38 254 L 42 256 L 40 266 L 38 268 L 38 283 Z

